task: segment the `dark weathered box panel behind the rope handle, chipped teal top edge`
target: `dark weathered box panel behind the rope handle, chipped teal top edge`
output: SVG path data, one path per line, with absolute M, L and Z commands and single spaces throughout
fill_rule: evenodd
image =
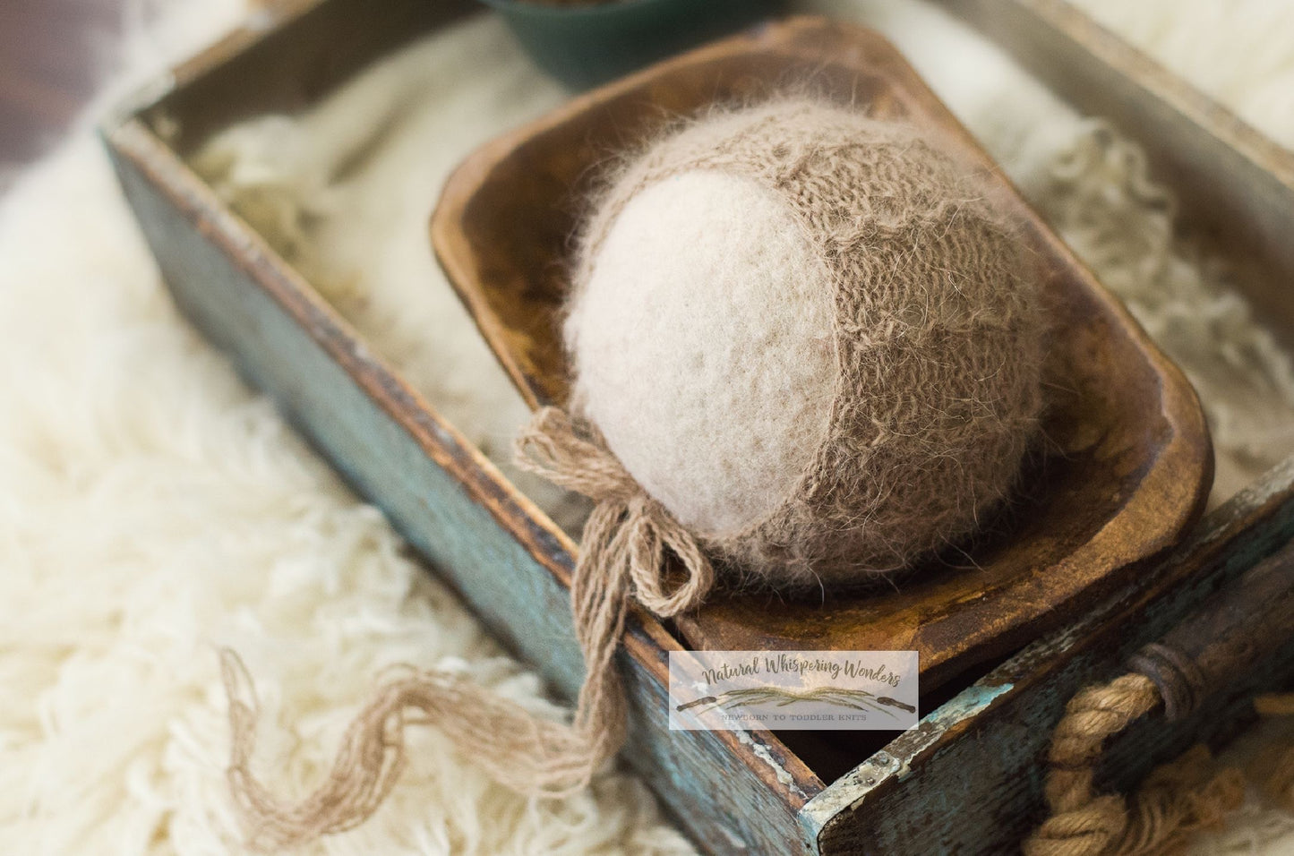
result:
M 1206 519 L 1141 595 L 1124 594 L 1003 663 L 920 725 L 811 800 L 801 812 L 824 855 L 999 853 L 1043 819 L 1051 733 L 1083 685 L 1124 662 L 1211 594 L 1294 537 L 1294 459 Z M 1294 640 L 1236 676 L 1189 718 L 1152 714 L 1109 747 L 1102 785 L 1126 793 L 1156 764 L 1196 742 L 1219 744 L 1253 720 L 1254 692 L 1294 679 Z

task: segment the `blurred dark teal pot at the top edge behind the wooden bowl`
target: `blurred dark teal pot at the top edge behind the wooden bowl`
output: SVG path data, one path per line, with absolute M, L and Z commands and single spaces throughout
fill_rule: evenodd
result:
M 778 12 L 782 0 L 608 0 L 559 6 L 483 0 L 536 63 L 572 89 L 641 69 Z

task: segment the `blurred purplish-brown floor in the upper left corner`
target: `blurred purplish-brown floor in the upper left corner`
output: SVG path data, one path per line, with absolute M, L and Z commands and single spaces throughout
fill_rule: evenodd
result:
M 127 0 L 0 0 L 0 182 L 39 156 L 110 70 Z

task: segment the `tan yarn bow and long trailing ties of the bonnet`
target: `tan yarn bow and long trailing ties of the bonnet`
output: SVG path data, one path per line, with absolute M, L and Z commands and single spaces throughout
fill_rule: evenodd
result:
M 602 437 L 560 410 L 540 410 L 516 441 L 518 462 L 594 499 L 571 586 L 585 681 L 573 723 L 534 716 L 470 680 L 413 667 L 380 685 L 342 738 L 327 777 L 305 799 L 285 802 L 251 772 L 258 703 L 232 650 L 221 652 L 229 696 L 228 769 L 248 844 L 285 850 L 358 826 L 380 807 L 406 763 L 404 729 L 440 729 L 494 781 L 527 795 L 562 798 L 582 790 L 620 749 L 626 702 L 615 666 L 629 597 L 661 617 L 695 609 L 714 584 L 696 540 L 625 472 Z M 666 587 L 666 548 L 686 572 Z M 410 711 L 419 716 L 413 719 Z

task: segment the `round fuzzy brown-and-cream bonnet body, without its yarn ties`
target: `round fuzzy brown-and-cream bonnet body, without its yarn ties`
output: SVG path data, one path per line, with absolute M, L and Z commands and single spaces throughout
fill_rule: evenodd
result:
M 1042 316 L 968 172 L 905 125 L 783 101 L 655 142 L 584 230 L 572 409 L 747 582 L 902 568 L 1012 487 Z

